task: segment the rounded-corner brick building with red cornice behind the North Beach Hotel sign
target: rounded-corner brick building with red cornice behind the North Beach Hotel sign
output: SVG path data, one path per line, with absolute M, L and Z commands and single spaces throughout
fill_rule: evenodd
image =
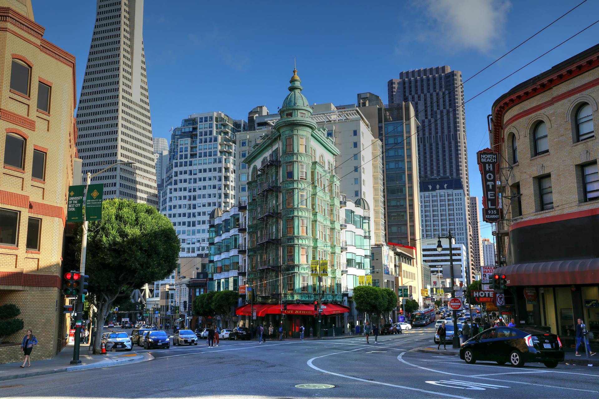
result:
M 501 152 L 498 262 L 517 322 L 573 342 L 576 319 L 599 336 L 599 45 L 527 80 L 492 107 Z M 568 339 L 569 338 L 569 339 Z

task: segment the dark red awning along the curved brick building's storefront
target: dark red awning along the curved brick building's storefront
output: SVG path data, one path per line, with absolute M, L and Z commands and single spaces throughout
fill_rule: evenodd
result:
M 498 267 L 508 287 L 522 285 L 599 284 L 599 258 L 519 263 Z

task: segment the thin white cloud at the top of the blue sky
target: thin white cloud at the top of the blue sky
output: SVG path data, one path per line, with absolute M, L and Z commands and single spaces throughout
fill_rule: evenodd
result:
M 456 50 L 474 49 L 488 53 L 501 45 L 501 35 L 512 8 L 509 0 L 426 0 L 423 10 L 428 17 L 419 39 L 447 42 Z

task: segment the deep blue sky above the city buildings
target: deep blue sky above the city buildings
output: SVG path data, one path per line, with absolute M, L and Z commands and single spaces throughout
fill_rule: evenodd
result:
M 144 44 L 153 135 L 193 112 L 247 118 L 256 105 L 276 112 L 297 58 L 310 102 L 355 103 L 408 69 L 449 65 L 467 80 L 582 0 L 206 2 L 146 0 Z M 33 0 L 44 38 L 77 57 L 81 87 L 95 19 L 93 0 Z M 464 85 L 469 99 L 595 22 L 588 0 L 555 25 Z M 599 24 L 468 102 L 471 195 L 482 193 L 476 152 L 488 147 L 486 115 L 501 94 L 592 45 Z M 483 237 L 491 236 L 482 225 Z

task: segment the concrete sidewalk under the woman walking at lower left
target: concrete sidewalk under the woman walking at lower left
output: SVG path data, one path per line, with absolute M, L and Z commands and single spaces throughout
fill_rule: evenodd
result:
M 81 364 L 70 364 L 69 362 L 72 358 L 73 346 L 69 345 L 52 359 L 32 361 L 31 367 L 25 366 L 25 368 L 20 368 L 19 366 L 22 363 L 0 364 L 0 381 L 62 373 L 64 371 L 89 370 L 90 368 L 141 363 L 152 360 L 154 357 L 147 352 L 140 354 L 135 352 L 108 352 L 107 355 L 88 355 L 87 346 L 81 346 L 81 355 L 79 357 Z

